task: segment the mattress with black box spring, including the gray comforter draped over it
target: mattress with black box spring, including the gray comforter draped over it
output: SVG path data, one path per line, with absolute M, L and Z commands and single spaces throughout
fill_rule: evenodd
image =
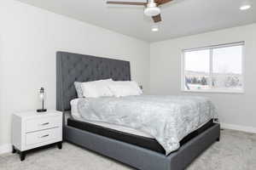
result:
M 212 124 L 215 113 L 209 99 L 191 96 L 86 98 L 74 99 L 71 106 L 73 119 L 68 126 L 166 155 L 177 150 L 187 136 Z

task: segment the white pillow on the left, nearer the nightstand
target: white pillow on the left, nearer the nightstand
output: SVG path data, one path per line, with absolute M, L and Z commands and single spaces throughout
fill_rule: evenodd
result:
M 108 84 L 113 82 L 112 79 L 99 80 L 93 82 L 82 82 L 82 90 L 85 98 L 99 98 L 104 96 L 113 96 L 108 88 Z

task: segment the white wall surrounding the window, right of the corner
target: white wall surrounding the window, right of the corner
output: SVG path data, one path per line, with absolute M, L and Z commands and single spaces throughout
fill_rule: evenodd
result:
M 181 50 L 245 41 L 245 94 L 193 94 L 210 97 L 224 127 L 256 133 L 256 24 L 150 44 L 150 91 L 181 92 Z M 191 93 L 190 93 L 191 94 Z

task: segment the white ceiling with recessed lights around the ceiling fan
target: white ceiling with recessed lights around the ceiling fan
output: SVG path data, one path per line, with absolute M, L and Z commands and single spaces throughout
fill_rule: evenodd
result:
M 174 0 L 161 7 L 158 32 L 151 31 L 153 22 L 141 6 L 110 6 L 105 0 L 20 1 L 148 42 L 256 22 L 256 0 L 250 0 L 253 7 L 247 11 L 239 7 L 248 0 Z

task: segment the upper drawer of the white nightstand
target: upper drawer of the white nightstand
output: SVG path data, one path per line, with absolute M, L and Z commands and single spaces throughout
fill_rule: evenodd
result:
M 26 121 L 26 133 L 44 130 L 53 127 L 61 127 L 61 116 L 49 116 L 40 119 Z

